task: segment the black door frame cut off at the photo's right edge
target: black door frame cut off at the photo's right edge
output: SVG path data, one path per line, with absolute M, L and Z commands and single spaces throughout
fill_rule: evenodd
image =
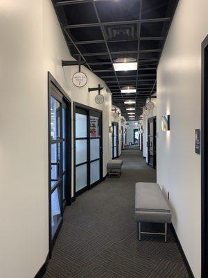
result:
M 201 93 L 201 228 L 202 278 L 208 277 L 208 36 L 202 42 Z

